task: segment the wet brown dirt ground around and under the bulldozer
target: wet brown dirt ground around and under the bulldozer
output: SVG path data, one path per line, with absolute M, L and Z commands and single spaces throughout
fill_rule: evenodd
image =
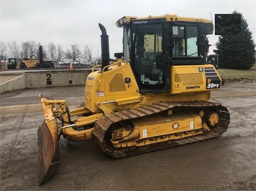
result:
M 222 137 L 139 156 L 112 159 L 95 140 L 60 139 L 61 164 L 37 186 L 37 134 L 43 121 L 39 93 L 83 101 L 84 87 L 26 89 L 1 94 L 1 190 L 255 190 L 256 84 L 228 82 L 211 101 L 228 107 Z

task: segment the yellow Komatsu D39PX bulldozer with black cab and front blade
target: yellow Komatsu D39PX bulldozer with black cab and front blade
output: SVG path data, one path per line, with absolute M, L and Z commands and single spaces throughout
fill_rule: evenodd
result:
M 103 152 L 123 158 L 216 138 L 228 128 L 227 108 L 208 101 L 210 91 L 221 89 L 206 61 L 211 20 L 125 16 L 116 25 L 123 28 L 123 53 L 109 62 L 108 35 L 99 24 L 102 65 L 88 75 L 80 108 L 40 95 L 39 184 L 60 164 L 61 135 L 73 142 L 95 138 Z

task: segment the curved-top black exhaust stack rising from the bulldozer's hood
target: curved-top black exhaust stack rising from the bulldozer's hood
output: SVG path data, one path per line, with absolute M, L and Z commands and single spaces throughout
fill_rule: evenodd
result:
M 99 23 L 99 28 L 101 29 L 101 71 L 107 65 L 109 65 L 109 35 L 107 35 L 106 28 Z

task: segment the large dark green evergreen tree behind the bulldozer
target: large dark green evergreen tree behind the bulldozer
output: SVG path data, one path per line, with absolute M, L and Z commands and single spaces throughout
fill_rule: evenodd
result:
M 232 14 L 241 14 L 236 10 Z M 220 67 L 247 70 L 255 63 L 255 43 L 248 23 L 241 14 L 241 33 L 239 35 L 221 35 L 216 43 L 216 54 L 220 56 Z

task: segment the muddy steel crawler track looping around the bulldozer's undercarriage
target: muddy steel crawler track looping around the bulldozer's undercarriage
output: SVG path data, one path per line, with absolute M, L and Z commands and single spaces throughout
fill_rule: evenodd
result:
M 168 109 L 173 108 L 211 108 L 212 106 L 216 107 L 220 114 L 219 126 L 214 128 L 211 132 L 200 134 L 197 136 L 191 136 L 188 138 L 182 138 L 179 140 L 169 140 L 167 142 L 159 142 L 150 144 L 147 146 L 135 146 L 127 147 L 122 149 L 110 148 L 104 142 L 104 136 L 108 133 L 107 130 L 109 127 L 117 122 L 122 120 L 131 120 L 134 118 L 156 114 Z M 230 114 L 226 107 L 222 106 L 219 103 L 209 102 L 209 101 L 190 101 L 190 102 L 158 102 L 155 104 L 141 106 L 139 108 L 124 110 L 119 112 L 112 112 L 111 114 L 103 115 L 95 123 L 95 128 L 93 134 L 96 138 L 96 142 L 99 144 L 101 150 L 111 155 L 113 158 L 127 157 L 137 154 L 148 153 L 157 150 L 163 150 L 165 148 L 172 148 L 176 146 L 181 146 L 185 144 L 191 144 L 194 142 L 204 141 L 212 138 L 221 136 L 226 132 L 228 125 L 230 123 Z

